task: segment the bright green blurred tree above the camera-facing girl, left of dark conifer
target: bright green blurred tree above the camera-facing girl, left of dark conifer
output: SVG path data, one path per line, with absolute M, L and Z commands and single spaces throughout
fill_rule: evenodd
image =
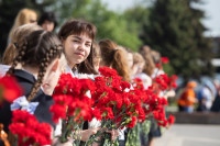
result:
M 130 22 L 122 14 L 108 10 L 100 0 L 75 0 L 72 4 L 70 0 L 65 0 L 58 5 L 61 19 L 65 18 L 63 22 L 67 18 L 78 18 L 94 23 L 98 30 L 97 40 L 110 38 L 134 50 L 142 44 Z

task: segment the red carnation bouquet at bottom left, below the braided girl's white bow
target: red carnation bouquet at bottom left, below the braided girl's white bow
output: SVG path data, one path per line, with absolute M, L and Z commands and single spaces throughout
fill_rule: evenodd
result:
M 33 114 L 15 110 L 12 113 L 12 124 L 9 130 L 15 136 L 18 146 L 51 145 L 52 128 L 47 123 L 38 123 Z M 18 142 L 16 142 L 18 139 Z

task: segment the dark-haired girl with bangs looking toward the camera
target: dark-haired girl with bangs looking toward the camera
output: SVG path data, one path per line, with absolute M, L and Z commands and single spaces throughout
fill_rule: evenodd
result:
M 64 53 L 68 66 L 66 72 L 73 77 L 98 75 L 95 69 L 95 48 L 92 43 L 96 36 L 96 26 L 89 22 L 81 20 L 67 21 L 58 32 L 58 36 L 63 42 Z M 96 134 L 98 127 L 90 127 L 88 122 L 81 131 L 81 141 L 86 142 L 90 135 Z

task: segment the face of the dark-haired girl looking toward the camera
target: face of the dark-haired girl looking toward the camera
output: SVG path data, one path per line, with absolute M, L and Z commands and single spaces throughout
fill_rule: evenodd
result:
M 88 35 L 69 35 L 63 41 L 65 55 L 70 68 L 84 61 L 90 53 L 92 40 Z

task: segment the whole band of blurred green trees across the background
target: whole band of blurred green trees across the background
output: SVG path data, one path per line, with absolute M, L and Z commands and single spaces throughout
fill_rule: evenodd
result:
M 183 75 L 185 79 L 199 77 L 212 72 L 213 55 L 211 41 L 202 35 L 204 12 L 193 8 L 191 2 L 200 0 L 155 0 L 151 9 L 138 3 L 119 13 L 108 10 L 101 0 L 1 0 L 1 53 L 20 9 L 54 10 L 59 26 L 70 18 L 85 19 L 97 26 L 98 41 L 110 38 L 133 50 L 147 44 L 169 58 L 170 64 L 164 67 L 169 74 Z

